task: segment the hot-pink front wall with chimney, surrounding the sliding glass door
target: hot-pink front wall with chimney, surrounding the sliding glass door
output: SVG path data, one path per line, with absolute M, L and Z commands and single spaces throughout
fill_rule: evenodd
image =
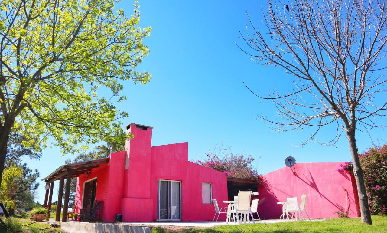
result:
M 127 143 L 123 220 L 157 219 L 159 179 L 181 182 L 182 221 L 212 220 L 214 206 L 202 204 L 202 183 L 212 183 L 212 198 L 223 204 L 221 201 L 227 200 L 226 175 L 189 162 L 187 142 L 151 147 L 152 128 L 143 130 L 132 125 L 128 132 L 134 139 Z

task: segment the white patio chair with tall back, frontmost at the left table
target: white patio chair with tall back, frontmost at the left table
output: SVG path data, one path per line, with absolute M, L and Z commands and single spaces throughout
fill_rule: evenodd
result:
M 243 219 L 245 223 L 246 220 L 250 221 L 251 215 L 253 223 L 255 223 L 253 213 L 251 212 L 250 200 L 251 191 L 239 191 L 238 203 L 235 204 L 234 210 L 229 210 L 227 214 L 235 214 L 239 224 L 241 224 L 242 222 L 241 219 Z M 239 216 L 239 214 L 241 214 L 241 217 Z

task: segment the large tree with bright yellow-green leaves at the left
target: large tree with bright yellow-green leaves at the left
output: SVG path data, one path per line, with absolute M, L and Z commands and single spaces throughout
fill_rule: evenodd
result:
M 119 130 L 114 104 L 122 81 L 145 84 L 137 66 L 149 53 L 139 6 L 125 15 L 114 0 L 3 0 L 0 14 L 0 174 L 11 132 L 26 147 L 77 152 Z M 98 96 L 108 90 L 111 96 Z M 82 146 L 79 146 L 82 145 Z M 80 149 L 78 149 L 80 148 Z M 1 176 L 0 176 L 1 182 Z

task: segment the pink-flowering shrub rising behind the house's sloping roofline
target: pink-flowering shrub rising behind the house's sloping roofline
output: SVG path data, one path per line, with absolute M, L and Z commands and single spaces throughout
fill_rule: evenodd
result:
M 202 161 L 203 160 L 203 161 Z M 202 160 L 193 161 L 196 164 L 222 171 L 228 178 L 241 178 L 262 183 L 262 175 L 252 163 L 254 158 L 247 153 L 233 154 L 230 147 L 226 149 L 215 147 L 214 151 L 205 154 Z

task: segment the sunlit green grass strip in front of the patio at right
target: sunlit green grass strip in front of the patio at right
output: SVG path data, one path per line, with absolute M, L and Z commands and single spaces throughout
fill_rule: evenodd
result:
M 361 223 L 360 218 L 335 218 L 325 221 L 297 221 L 271 224 L 241 224 L 213 228 L 191 228 L 182 233 L 249 233 L 249 232 L 386 232 L 387 217 L 372 216 L 372 225 Z M 163 230 L 157 229 L 156 232 Z

